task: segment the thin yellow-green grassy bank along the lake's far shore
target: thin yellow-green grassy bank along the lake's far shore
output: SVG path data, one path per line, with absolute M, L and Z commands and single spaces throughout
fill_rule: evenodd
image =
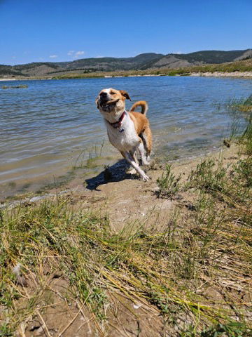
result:
M 193 73 L 231 73 L 231 72 L 252 72 L 252 60 L 242 60 L 237 62 L 227 62 L 218 65 L 197 65 L 192 67 L 183 68 L 162 68 L 162 69 L 148 69 L 148 70 L 129 70 L 129 71 L 116 71 L 116 72 L 90 72 L 88 74 L 62 74 L 53 79 L 87 79 L 87 78 L 102 78 L 106 76 L 111 77 L 128 77 L 128 76 L 144 76 L 148 74 L 153 75 L 190 75 Z

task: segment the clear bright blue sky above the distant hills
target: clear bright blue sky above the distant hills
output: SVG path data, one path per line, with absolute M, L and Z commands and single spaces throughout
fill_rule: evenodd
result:
M 0 64 L 252 48 L 252 0 L 0 0 Z

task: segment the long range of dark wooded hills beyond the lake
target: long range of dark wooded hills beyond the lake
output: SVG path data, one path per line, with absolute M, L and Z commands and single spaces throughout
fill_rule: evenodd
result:
M 52 77 L 92 72 L 176 69 L 197 65 L 222 64 L 252 58 L 252 49 L 244 51 L 197 51 L 167 55 L 143 53 L 132 58 L 83 58 L 69 62 L 31 62 L 24 65 L 0 65 L 0 77 Z

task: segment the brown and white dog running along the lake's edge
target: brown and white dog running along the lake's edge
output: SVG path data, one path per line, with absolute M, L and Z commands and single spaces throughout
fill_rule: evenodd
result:
M 95 103 L 104 117 L 109 140 L 123 157 L 131 164 L 131 173 L 139 173 L 144 181 L 149 178 L 139 167 L 136 151 L 141 154 L 141 162 L 150 164 L 152 135 L 149 121 L 146 118 L 148 105 L 140 100 L 132 105 L 130 112 L 125 110 L 125 100 L 131 100 L 127 91 L 113 88 L 100 91 Z M 141 112 L 136 112 L 136 107 L 141 107 Z

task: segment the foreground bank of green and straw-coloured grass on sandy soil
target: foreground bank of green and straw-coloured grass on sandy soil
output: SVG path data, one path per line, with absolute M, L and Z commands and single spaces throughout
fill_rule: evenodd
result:
M 227 106 L 246 121 L 237 159 L 167 165 L 159 228 L 116 232 L 71 198 L 1 211 L 0 336 L 251 336 L 250 102 Z

